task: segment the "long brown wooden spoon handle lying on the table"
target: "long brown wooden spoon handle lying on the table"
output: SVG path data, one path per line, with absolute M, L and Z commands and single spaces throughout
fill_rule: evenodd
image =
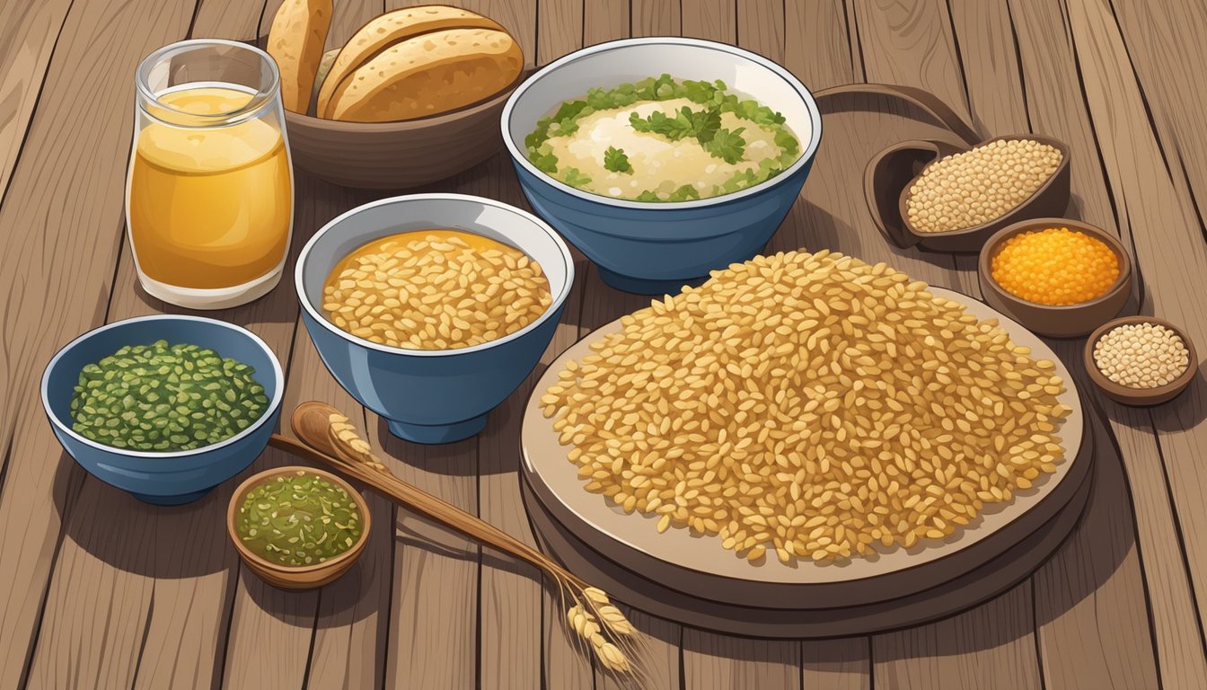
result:
M 544 553 L 532 549 L 494 524 L 474 515 L 470 515 L 460 508 L 400 480 L 392 474 L 379 472 L 355 463 L 344 462 L 280 434 L 273 434 L 268 445 L 348 475 L 369 486 L 402 508 L 435 520 L 474 541 L 509 553 L 548 573 L 554 579 L 570 580 L 579 587 L 589 586 Z

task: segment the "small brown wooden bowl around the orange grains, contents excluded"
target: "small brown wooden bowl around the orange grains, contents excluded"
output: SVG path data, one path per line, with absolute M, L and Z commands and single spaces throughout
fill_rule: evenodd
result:
M 1002 247 L 1002 243 L 1015 234 L 1046 227 L 1067 227 L 1084 232 L 1106 243 L 1119 260 L 1119 278 L 1115 279 L 1115 284 L 1106 294 L 1089 302 L 1060 307 L 1039 305 L 1007 292 L 993 279 L 993 256 Z M 980 253 L 978 279 L 980 282 L 981 296 L 999 312 L 1005 313 L 1042 336 L 1071 338 L 1089 334 L 1114 318 L 1124 308 L 1124 305 L 1127 303 L 1127 297 L 1131 295 L 1132 261 L 1123 243 L 1119 242 L 1119 238 L 1102 228 L 1067 218 L 1037 218 L 1004 227 L 989 238 Z

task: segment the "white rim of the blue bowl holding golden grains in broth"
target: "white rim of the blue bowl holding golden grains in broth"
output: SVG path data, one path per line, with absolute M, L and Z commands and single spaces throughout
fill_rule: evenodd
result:
M 507 334 L 506 336 L 503 336 L 501 338 L 488 341 L 488 342 L 479 343 L 479 344 L 471 346 L 471 347 L 463 347 L 463 348 L 456 348 L 456 349 L 408 349 L 408 348 L 401 348 L 401 347 L 390 347 L 390 346 L 385 346 L 385 344 L 375 343 L 373 341 L 365 340 L 365 338 L 358 337 L 358 336 L 354 336 L 352 334 L 350 334 L 350 332 L 340 329 L 336 324 L 331 323 L 331 319 L 328 319 L 327 317 L 320 314 L 317 312 L 317 309 L 315 309 L 314 306 L 310 303 L 310 300 L 307 297 L 307 294 L 305 294 L 305 280 L 303 279 L 303 273 L 304 273 L 307 259 L 310 257 L 310 249 L 314 248 L 314 245 L 319 242 L 319 239 L 322 238 L 323 234 L 327 233 L 327 231 L 330 231 L 331 228 L 333 228 L 334 226 L 339 225 L 344 220 L 346 220 L 346 219 L 349 219 L 349 218 L 351 218 L 351 216 L 354 216 L 354 215 L 356 215 L 356 214 L 358 214 L 361 211 L 368 210 L 371 208 L 377 208 L 377 207 L 380 207 L 380 205 L 404 204 L 404 203 L 407 203 L 409 201 L 453 201 L 453 202 L 461 202 L 461 203 L 484 204 L 484 205 L 495 207 L 495 208 L 505 210 L 505 211 L 513 213 L 513 214 L 515 214 L 515 215 L 518 215 L 518 216 L 527 220 L 529 222 L 533 224 L 537 228 L 540 228 L 542 232 L 544 232 L 547 236 L 549 236 L 549 239 L 553 240 L 554 245 L 556 245 L 558 250 L 561 253 L 561 262 L 562 262 L 562 265 L 566 268 L 566 280 L 565 280 L 565 284 L 561 286 L 561 290 L 558 292 L 558 295 L 554 296 L 553 301 L 549 303 L 549 307 L 546 308 L 546 311 L 540 317 L 537 317 L 532 323 L 530 323 L 529 325 L 524 326 L 523 329 L 515 331 L 514 334 Z M 433 221 L 433 224 L 438 225 L 438 222 L 436 222 L 436 221 Z M 478 233 L 473 232 L 472 230 L 463 230 L 463 228 L 461 228 L 461 230 L 463 232 L 471 232 L 471 233 L 478 234 Z M 408 232 L 408 231 L 396 231 L 396 232 Z M 511 238 L 507 238 L 507 239 L 511 239 Z M 362 244 L 363 244 L 363 242 L 362 242 Z M 520 251 L 523 251 L 529 259 L 532 259 L 532 255 L 525 248 L 517 247 L 517 249 L 519 249 Z M 548 274 L 548 271 L 546 271 L 544 267 L 542 267 L 542 272 L 544 272 L 546 274 Z M 326 277 L 323 277 L 323 280 L 326 280 Z M 561 239 L 561 236 L 559 236 L 556 232 L 554 232 L 554 230 L 552 227 L 549 227 L 549 224 L 544 222 L 543 220 L 538 219 L 537 216 L 530 214 L 529 211 L 526 211 L 524 209 L 515 208 L 515 207 L 513 207 L 511 204 L 505 204 L 503 202 L 496 202 L 495 199 L 488 199 L 485 197 L 476 197 L 473 195 L 454 195 L 454 193 L 443 193 L 443 192 L 430 192 L 430 193 L 422 193 L 422 195 L 402 195 L 402 196 L 397 196 L 397 197 L 389 197 L 389 198 L 378 199 L 375 202 L 369 202 L 367 204 L 358 205 L 358 207 L 356 207 L 354 209 L 346 210 L 346 211 L 337 215 L 336 218 L 333 218 L 330 221 L 327 221 L 326 225 L 323 225 L 322 227 L 320 227 L 319 232 L 315 232 L 314 237 L 311 237 L 309 239 L 309 242 L 305 243 L 305 247 L 302 248 L 302 253 L 298 254 L 297 266 L 295 266 L 295 268 L 293 268 L 293 288 L 297 291 L 298 302 L 302 303 L 302 308 L 305 309 L 307 313 L 309 313 L 310 317 L 315 321 L 317 321 L 320 325 L 322 325 L 328 331 L 331 331 L 331 332 L 336 334 L 337 336 L 344 338 L 345 341 L 350 341 L 350 342 L 354 342 L 354 343 L 356 343 L 358 346 L 363 346 L 363 347 L 367 347 L 369 349 L 375 349 L 378 352 L 385 352 L 385 353 L 390 353 L 390 354 L 410 355 L 410 356 L 453 356 L 453 355 L 459 355 L 459 354 L 470 354 L 470 353 L 480 352 L 480 350 L 484 350 L 484 349 L 490 349 L 492 347 L 501 346 L 501 344 L 503 344 L 506 342 L 517 340 L 517 338 L 521 337 L 524 334 L 526 334 L 526 332 L 529 332 L 531 330 L 535 330 L 537 326 L 540 326 L 544 321 L 549 320 L 549 317 L 555 311 L 558 311 L 558 308 L 561 307 L 562 302 L 566 301 L 566 297 L 570 296 L 570 290 L 573 286 L 573 284 L 575 284 L 575 260 L 570 256 L 570 248 L 566 247 L 566 242 L 564 239 Z

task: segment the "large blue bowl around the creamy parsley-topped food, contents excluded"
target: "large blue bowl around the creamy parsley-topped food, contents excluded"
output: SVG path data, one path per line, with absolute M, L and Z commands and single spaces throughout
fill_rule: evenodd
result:
M 589 87 L 649 76 L 722 80 L 783 114 L 801 155 L 787 170 L 753 187 L 677 203 L 616 199 L 571 187 L 529 162 L 524 138 L 540 118 Z M 754 53 L 695 39 L 648 37 L 600 44 L 547 65 L 503 108 L 503 141 L 520 187 L 537 214 L 583 251 L 610 285 L 642 294 L 675 292 L 716 268 L 758 254 L 797 201 L 821 141 L 822 120 L 809 89 Z

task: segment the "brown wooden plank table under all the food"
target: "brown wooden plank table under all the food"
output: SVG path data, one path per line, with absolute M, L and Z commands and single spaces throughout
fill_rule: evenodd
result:
M 1133 253 L 1129 309 L 1207 344 L 1207 16 L 1197 0 L 466 0 L 547 63 L 583 45 L 683 34 L 741 45 L 812 88 L 925 87 L 982 134 L 1034 131 L 1073 149 L 1069 213 Z M 12 0 L 0 4 L 0 688 L 594 688 L 535 570 L 371 497 L 361 563 L 287 593 L 240 568 L 223 532 L 237 480 L 192 505 L 136 501 L 62 453 L 37 394 L 58 347 L 105 321 L 177 312 L 136 286 L 123 185 L 133 75 L 188 36 L 250 39 L 278 0 Z M 393 0 L 385 1 L 391 8 Z M 332 44 L 380 0 L 337 0 Z M 817 166 L 771 250 L 832 248 L 976 294 L 968 257 L 900 251 L 875 233 L 863 164 L 933 131 L 899 105 L 828 109 Z M 525 205 L 500 155 L 430 190 Z M 295 250 L 344 209 L 385 196 L 297 180 Z M 641 306 L 585 260 L 548 363 Z M 333 382 L 298 327 L 288 280 L 217 314 L 287 364 L 286 410 L 350 413 L 407 480 L 531 540 L 517 435 L 535 375 L 477 439 L 393 440 Z M 1055 342 L 1080 370 L 1080 341 Z M 1085 384 L 1085 382 L 1081 382 Z M 640 611 L 660 688 L 1207 686 L 1207 385 L 1154 410 L 1090 394 L 1097 463 L 1078 529 L 1033 576 L 955 617 L 873 637 L 768 642 Z M 286 463 L 267 452 L 251 470 Z M 246 472 L 245 472 L 246 474 Z M 245 475 L 241 475 L 245 476 Z M 392 529 L 389 526 L 393 526 Z

